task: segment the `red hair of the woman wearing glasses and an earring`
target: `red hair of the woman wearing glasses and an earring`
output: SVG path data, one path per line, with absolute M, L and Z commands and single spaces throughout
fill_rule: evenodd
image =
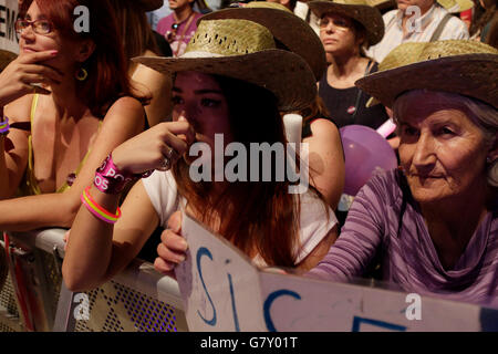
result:
M 93 115 L 102 118 L 114 101 L 122 96 L 134 96 L 143 103 L 146 102 L 146 98 L 132 92 L 122 37 L 107 1 L 27 0 L 21 6 L 21 14 L 27 13 L 33 1 L 61 35 L 75 41 L 91 39 L 95 43 L 94 52 L 82 64 L 82 67 L 89 72 L 89 77 L 85 81 L 76 81 L 79 97 Z M 90 31 L 77 33 L 74 30 L 74 23 L 77 20 L 74 9 L 80 6 L 89 9 Z

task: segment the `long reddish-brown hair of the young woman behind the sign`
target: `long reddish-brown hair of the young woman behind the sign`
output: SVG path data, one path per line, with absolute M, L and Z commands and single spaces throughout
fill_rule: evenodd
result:
M 228 102 L 235 142 L 243 144 L 247 152 L 250 143 L 286 143 L 273 94 L 242 81 L 215 79 Z M 272 171 L 276 171 L 276 163 L 273 155 Z M 247 167 L 250 171 L 249 163 Z M 289 181 L 276 181 L 273 175 L 272 181 L 227 183 L 222 192 L 215 194 L 211 183 L 190 179 L 189 166 L 183 159 L 174 166 L 173 174 L 178 191 L 197 215 L 201 215 L 203 222 L 209 225 L 219 216 L 221 225 L 215 231 L 242 252 L 253 256 L 257 251 L 269 266 L 294 267 L 300 207 L 294 202 L 294 197 L 299 196 L 288 191 Z

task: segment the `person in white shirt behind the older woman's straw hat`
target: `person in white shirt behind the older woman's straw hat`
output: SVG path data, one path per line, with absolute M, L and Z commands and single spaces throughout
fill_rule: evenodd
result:
M 397 9 L 383 15 L 385 34 L 366 54 L 376 62 L 405 42 L 466 40 L 467 27 L 435 0 L 396 0 Z M 417 8 L 415 8 L 417 7 Z

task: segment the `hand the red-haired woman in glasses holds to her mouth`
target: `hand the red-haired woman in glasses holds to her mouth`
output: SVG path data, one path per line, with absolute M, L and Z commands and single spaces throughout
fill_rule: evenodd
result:
M 53 59 L 56 51 L 19 55 L 0 74 L 0 106 L 30 93 L 50 94 L 37 84 L 60 84 L 63 74 L 42 62 Z

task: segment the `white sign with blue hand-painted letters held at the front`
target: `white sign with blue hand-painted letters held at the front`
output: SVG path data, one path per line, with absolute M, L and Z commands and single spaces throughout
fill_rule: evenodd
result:
M 497 331 L 498 310 L 259 270 L 184 214 L 176 269 L 190 331 Z

